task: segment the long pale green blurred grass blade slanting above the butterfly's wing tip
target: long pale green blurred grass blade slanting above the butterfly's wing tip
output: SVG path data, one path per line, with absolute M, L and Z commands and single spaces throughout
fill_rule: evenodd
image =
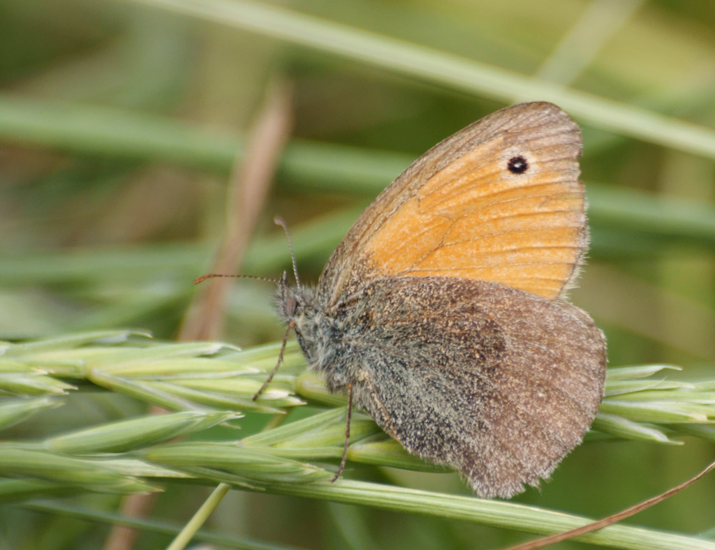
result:
M 511 102 L 528 96 L 618 134 L 715 158 L 715 131 L 453 54 L 246 0 L 132 0 L 237 26 L 452 89 Z

